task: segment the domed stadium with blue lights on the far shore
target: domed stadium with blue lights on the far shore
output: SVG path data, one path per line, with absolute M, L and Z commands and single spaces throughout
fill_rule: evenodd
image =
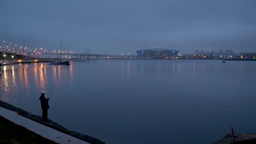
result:
M 163 47 L 147 48 L 136 51 L 137 57 L 142 59 L 176 59 L 179 51 Z

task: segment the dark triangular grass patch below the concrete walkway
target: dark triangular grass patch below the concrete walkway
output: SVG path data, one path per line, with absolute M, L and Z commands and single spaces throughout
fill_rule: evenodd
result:
M 2 144 L 58 144 L 27 128 L 0 116 L 0 143 Z

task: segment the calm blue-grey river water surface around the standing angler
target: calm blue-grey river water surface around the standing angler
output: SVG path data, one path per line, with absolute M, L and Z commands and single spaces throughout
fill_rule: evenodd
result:
M 99 60 L 1 66 L 0 100 L 109 144 L 213 143 L 256 133 L 256 62 Z

